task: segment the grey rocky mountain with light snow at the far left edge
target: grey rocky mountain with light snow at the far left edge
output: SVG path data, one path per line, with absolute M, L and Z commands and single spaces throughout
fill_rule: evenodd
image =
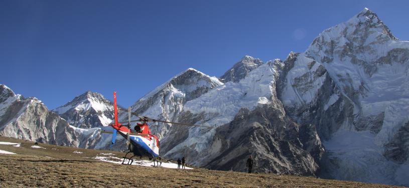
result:
M 37 98 L 24 98 L 0 84 L 0 135 L 81 148 L 107 148 L 110 137 L 99 128 L 71 126 L 58 114 L 49 111 Z

